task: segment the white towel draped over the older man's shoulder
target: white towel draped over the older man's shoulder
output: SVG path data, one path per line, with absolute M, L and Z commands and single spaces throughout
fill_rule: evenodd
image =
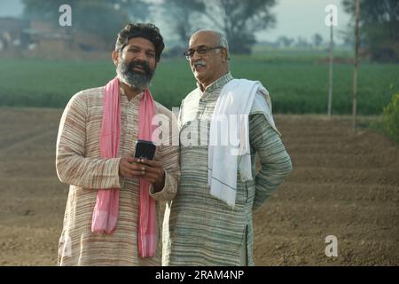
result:
M 253 178 L 248 115 L 261 86 L 259 81 L 231 80 L 223 87 L 212 115 L 207 182 L 210 193 L 231 207 L 236 201 L 237 169 L 242 181 Z

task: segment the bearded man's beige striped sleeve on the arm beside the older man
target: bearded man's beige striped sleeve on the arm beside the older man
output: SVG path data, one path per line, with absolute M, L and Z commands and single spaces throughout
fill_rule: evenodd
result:
M 160 146 L 159 158 L 165 170 L 165 185 L 156 193 L 153 185 L 150 186 L 150 196 L 156 201 L 171 201 L 175 198 L 180 180 L 179 130 L 174 114 L 168 117 L 167 123 L 162 123 L 165 124 L 168 124 L 168 128 L 162 127 L 162 135 L 168 134 L 168 138 L 164 139 L 164 144 Z

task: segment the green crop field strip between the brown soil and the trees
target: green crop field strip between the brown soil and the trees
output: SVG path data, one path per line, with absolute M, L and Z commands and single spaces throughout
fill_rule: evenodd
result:
M 348 52 L 341 52 L 348 57 Z M 259 80 L 270 91 L 274 113 L 320 114 L 327 108 L 328 54 L 325 51 L 254 51 L 231 56 L 236 78 Z M 349 54 L 350 55 L 350 54 Z M 352 109 L 353 66 L 333 68 L 333 114 Z M 0 106 L 64 107 L 75 92 L 106 84 L 115 74 L 113 62 L 44 59 L 0 59 Z M 361 63 L 358 113 L 381 114 L 398 90 L 399 65 Z M 171 108 L 196 87 L 185 59 L 161 59 L 151 91 Z

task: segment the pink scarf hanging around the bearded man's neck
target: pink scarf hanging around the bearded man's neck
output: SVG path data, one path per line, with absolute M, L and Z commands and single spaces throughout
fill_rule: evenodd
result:
M 138 138 L 151 140 L 156 125 L 152 124 L 156 108 L 150 91 L 145 90 L 138 111 Z M 156 134 L 155 134 L 156 135 Z M 157 136 L 154 136 L 157 137 Z M 118 156 L 121 139 L 121 109 L 119 81 L 114 78 L 104 87 L 103 121 L 99 147 L 101 158 Z M 138 217 L 138 253 L 141 257 L 154 256 L 156 250 L 156 205 L 149 194 L 150 183 L 140 178 Z M 94 207 L 91 231 L 113 233 L 119 212 L 119 188 L 99 189 Z

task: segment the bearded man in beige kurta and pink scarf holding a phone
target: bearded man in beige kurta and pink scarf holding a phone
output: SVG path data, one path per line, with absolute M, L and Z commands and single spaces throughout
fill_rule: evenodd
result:
M 163 48 L 157 27 L 128 24 L 113 51 L 116 77 L 66 106 L 56 156 L 70 185 L 59 265 L 160 265 L 159 201 L 173 199 L 180 175 L 172 114 L 148 90 Z M 160 136 L 168 143 L 154 141 Z M 154 160 L 133 158 L 137 139 L 157 144 Z

